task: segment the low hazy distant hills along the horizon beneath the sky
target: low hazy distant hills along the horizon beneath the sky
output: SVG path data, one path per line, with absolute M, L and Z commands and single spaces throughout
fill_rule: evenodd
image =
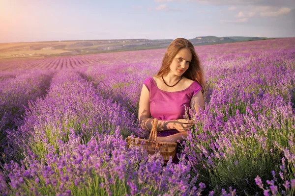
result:
M 189 39 L 194 46 L 270 39 L 266 37 L 204 36 Z M 173 39 L 125 40 L 67 40 L 27 43 L 0 43 L 0 60 L 14 58 L 43 58 L 140 49 L 167 48 Z

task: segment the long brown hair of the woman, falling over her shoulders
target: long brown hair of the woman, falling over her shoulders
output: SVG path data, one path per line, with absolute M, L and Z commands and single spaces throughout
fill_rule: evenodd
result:
M 183 73 L 183 76 L 188 79 L 195 80 L 199 82 L 202 86 L 202 92 L 205 90 L 205 76 L 203 72 L 203 67 L 200 62 L 200 58 L 195 51 L 193 44 L 184 38 L 177 38 L 168 46 L 166 53 L 162 60 L 162 66 L 159 72 L 155 75 L 156 77 L 165 76 L 170 72 L 170 65 L 177 55 L 180 49 L 189 49 L 193 55 L 193 58 L 189 64 L 188 69 Z

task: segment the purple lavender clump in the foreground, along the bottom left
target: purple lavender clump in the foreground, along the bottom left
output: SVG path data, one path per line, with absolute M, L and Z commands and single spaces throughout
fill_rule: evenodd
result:
M 126 141 L 115 135 L 96 135 L 81 145 L 81 136 L 69 134 L 59 140 L 59 154 L 48 147 L 46 162 L 30 152 L 17 164 L 4 165 L 0 172 L 2 195 L 199 195 L 205 188 L 194 186 L 197 177 L 189 174 L 184 156 L 178 165 L 172 160 L 162 167 L 159 154 L 147 156 L 141 147 L 126 148 Z

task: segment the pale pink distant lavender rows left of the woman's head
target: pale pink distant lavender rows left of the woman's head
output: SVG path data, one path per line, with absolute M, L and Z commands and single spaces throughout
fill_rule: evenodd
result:
M 23 70 L 65 70 L 65 69 L 79 69 L 92 66 L 101 65 L 117 65 L 122 63 L 138 63 L 141 61 L 150 61 L 164 52 L 163 49 L 158 50 L 159 53 L 151 53 L 146 50 L 129 51 L 119 53 L 101 53 L 94 55 L 79 55 L 79 56 L 65 56 L 52 57 L 41 59 L 22 59 L 22 60 L 8 60 L 0 62 L 0 71 L 23 71 Z M 134 58 L 136 56 L 136 58 Z

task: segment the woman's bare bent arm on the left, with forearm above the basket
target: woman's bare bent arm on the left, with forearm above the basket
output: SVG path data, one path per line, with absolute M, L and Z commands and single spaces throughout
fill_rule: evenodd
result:
M 139 99 L 138 120 L 141 127 L 145 130 L 151 130 L 152 119 L 149 111 L 149 91 L 146 85 L 143 85 L 142 92 Z M 178 119 L 175 121 L 158 121 L 157 131 L 164 131 L 169 129 L 177 129 L 178 131 L 186 131 L 192 126 L 193 121 L 186 119 Z

